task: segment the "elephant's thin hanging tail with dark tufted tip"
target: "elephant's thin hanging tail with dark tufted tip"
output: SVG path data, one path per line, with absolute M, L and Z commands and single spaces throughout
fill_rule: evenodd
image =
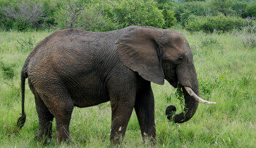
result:
M 26 121 L 26 114 L 24 111 L 24 102 L 25 102 L 25 82 L 26 82 L 26 74 L 24 74 L 23 71 L 21 71 L 21 107 L 22 107 L 22 112 L 21 112 L 21 117 L 19 117 L 17 126 L 18 128 L 22 128 L 25 121 Z

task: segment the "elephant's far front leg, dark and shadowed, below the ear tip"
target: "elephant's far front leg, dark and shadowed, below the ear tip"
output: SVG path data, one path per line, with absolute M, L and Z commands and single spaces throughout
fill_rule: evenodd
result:
M 154 95 L 150 82 L 143 82 L 143 88 L 138 92 L 135 101 L 135 112 L 140 124 L 143 140 L 150 139 L 155 143 L 156 127 L 154 122 Z

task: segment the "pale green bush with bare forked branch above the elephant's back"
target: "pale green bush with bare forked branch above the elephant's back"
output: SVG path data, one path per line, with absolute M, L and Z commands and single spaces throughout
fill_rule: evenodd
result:
M 116 25 L 106 17 L 102 9 L 96 9 L 99 4 L 66 4 L 56 13 L 56 23 L 58 27 L 78 28 L 86 31 L 110 31 L 116 28 Z M 80 10 L 79 10 L 80 9 Z M 79 11 L 78 11 L 79 10 Z

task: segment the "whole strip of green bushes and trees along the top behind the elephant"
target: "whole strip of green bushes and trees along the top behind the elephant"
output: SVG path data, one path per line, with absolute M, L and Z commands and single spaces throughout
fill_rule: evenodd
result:
M 1 0 L 0 30 L 80 28 L 110 31 L 126 26 L 188 31 L 232 31 L 256 26 L 256 1 L 211 0 Z

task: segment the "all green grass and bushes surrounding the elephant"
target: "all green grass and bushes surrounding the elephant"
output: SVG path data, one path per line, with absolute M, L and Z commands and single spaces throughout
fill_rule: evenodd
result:
M 63 28 L 111 31 L 126 26 L 155 26 L 181 31 L 192 49 L 200 104 L 192 120 L 174 124 L 165 117 L 184 99 L 167 82 L 151 83 L 155 96 L 158 147 L 256 147 L 256 1 L 238 0 L 1 0 L 0 1 L 0 146 L 42 147 L 37 143 L 37 112 L 26 82 L 27 120 L 18 131 L 21 112 L 20 70 L 34 46 Z M 75 108 L 71 144 L 51 147 L 110 145 L 110 103 Z M 53 121 L 55 122 L 55 121 Z M 143 145 L 135 112 L 124 147 Z

